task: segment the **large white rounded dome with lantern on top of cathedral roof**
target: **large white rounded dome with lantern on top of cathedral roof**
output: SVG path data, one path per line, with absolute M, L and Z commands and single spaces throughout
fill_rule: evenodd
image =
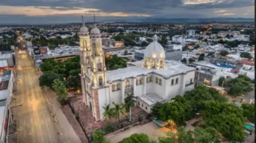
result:
M 144 52 L 144 57 L 150 58 L 150 59 L 158 59 L 158 58 L 165 58 L 165 51 L 163 49 L 163 46 L 160 45 L 159 42 L 157 42 L 157 35 L 153 36 L 153 42 L 151 42 Z

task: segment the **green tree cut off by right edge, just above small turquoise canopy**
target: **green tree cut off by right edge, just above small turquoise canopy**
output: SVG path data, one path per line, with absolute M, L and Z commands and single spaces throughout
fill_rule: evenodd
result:
M 255 123 L 255 104 L 242 104 L 243 116 Z

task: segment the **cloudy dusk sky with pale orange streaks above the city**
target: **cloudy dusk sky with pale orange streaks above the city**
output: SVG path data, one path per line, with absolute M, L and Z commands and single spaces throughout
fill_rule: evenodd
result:
M 254 18 L 255 0 L 0 0 L 0 24 L 104 19 Z

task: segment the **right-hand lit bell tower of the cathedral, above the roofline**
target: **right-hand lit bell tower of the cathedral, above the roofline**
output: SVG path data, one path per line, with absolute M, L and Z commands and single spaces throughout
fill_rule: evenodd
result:
M 95 21 L 95 17 L 94 17 Z M 90 31 L 90 39 L 92 46 L 92 56 L 91 56 L 91 82 L 92 86 L 104 86 L 107 83 L 106 78 L 106 68 L 104 60 L 104 51 L 102 50 L 102 37 L 97 28 L 97 25 L 94 24 L 93 28 Z

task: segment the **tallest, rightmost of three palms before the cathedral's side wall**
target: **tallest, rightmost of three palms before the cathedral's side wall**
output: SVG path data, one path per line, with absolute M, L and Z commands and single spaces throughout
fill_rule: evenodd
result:
M 131 123 L 131 107 L 135 107 L 136 97 L 133 93 L 126 95 L 124 108 L 126 112 L 130 112 L 129 121 Z

